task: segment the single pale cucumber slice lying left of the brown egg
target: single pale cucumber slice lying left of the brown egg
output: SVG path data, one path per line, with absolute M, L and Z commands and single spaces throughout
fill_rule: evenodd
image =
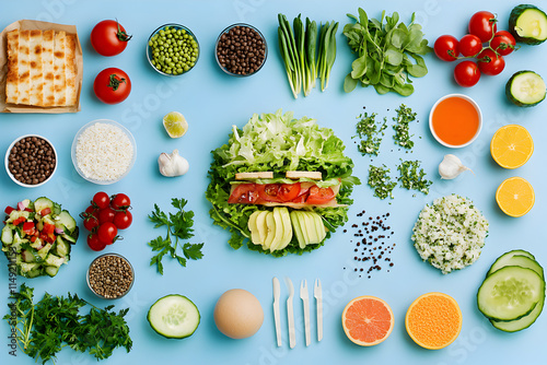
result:
M 150 326 L 167 339 L 184 339 L 198 328 L 198 307 L 186 296 L 170 294 L 158 299 L 148 311 Z

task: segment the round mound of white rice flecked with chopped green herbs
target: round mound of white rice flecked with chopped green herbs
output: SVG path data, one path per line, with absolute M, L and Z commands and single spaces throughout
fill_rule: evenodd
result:
M 412 232 L 421 259 L 446 274 L 479 258 L 488 236 L 488 221 L 473 201 L 451 195 L 427 204 Z

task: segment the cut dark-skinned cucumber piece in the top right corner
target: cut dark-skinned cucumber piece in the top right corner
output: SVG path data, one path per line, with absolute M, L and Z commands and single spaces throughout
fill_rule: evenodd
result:
M 509 32 L 516 42 L 539 45 L 547 39 L 547 14 L 537 7 L 515 7 L 509 16 Z

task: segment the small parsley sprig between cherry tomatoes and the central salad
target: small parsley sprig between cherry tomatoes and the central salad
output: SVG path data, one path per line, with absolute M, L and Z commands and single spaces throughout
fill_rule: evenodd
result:
M 158 272 L 163 275 L 163 263 L 162 259 L 166 254 L 178 261 L 183 267 L 186 267 L 186 260 L 199 260 L 203 257 L 201 252 L 201 248 L 203 244 L 190 244 L 186 243 L 184 245 L 178 244 L 178 239 L 190 239 L 194 237 L 194 212 L 193 211 L 184 211 L 184 207 L 188 203 L 185 199 L 175 199 L 173 198 L 171 204 L 177 209 L 178 211 L 173 214 L 164 213 L 160 210 L 158 204 L 154 204 L 154 211 L 148 217 L 152 223 L 155 223 L 154 228 L 159 228 L 162 226 L 167 227 L 167 236 L 163 238 L 159 236 L 155 239 L 152 239 L 148 243 L 150 247 L 152 247 L 152 251 L 159 251 L 159 254 L 150 260 L 150 266 L 154 263 L 158 266 Z M 171 239 L 175 237 L 175 242 Z M 181 246 L 183 250 L 183 256 L 177 255 L 177 247 Z

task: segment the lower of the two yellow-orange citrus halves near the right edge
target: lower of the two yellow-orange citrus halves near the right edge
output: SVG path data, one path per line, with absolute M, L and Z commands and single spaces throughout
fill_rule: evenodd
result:
M 534 188 L 522 177 L 510 177 L 498 187 L 496 201 L 507 215 L 523 216 L 534 207 Z

